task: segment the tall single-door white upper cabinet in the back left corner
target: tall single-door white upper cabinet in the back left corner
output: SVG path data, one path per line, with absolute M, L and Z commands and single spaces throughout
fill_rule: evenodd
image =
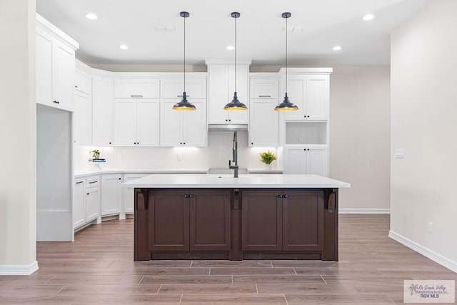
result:
M 92 76 L 92 144 L 114 146 L 113 79 Z

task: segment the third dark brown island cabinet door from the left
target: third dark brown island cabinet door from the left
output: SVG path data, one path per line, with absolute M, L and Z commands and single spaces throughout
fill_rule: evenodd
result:
M 282 251 L 282 191 L 243 191 L 241 249 Z

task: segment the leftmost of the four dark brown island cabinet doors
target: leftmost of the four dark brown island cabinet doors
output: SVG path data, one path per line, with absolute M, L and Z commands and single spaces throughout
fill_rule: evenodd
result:
M 149 197 L 149 250 L 189 251 L 189 191 L 153 191 Z

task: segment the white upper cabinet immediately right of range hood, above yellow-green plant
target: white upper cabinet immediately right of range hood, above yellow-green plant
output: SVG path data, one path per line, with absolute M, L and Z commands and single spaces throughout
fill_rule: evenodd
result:
M 249 146 L 278 146 L 278 74 L 251 74 Z

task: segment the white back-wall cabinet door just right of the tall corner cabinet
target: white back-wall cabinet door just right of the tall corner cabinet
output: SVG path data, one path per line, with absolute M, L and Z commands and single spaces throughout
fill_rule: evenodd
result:
M 114 100 L 114 145 L 136 145 L 136 99 Z

